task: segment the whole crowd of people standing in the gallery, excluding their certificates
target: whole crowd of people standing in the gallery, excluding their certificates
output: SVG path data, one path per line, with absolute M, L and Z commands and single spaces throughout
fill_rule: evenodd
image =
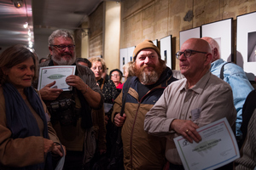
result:
M 218 169 L 256 167 L 255 90 L 241 67 L 221 59 L 211 37 L 183 42 L 180 71 L 144 40 L 124 73 L 113 69 L 107 76 L 102 57 L 76 58 L 69 31 L 53 31 L 48 46 L 47 58 L 22 45 L 0 55 L 1 170 L 111 169 L 117 135 L 121 169 L 183 170 L 174 138 L 200 143 L 197 129 L 224 117 L 241 157 Z M 65 77 L 73 88 L 52 81 L 38 89 L 39 69 L 57 65 L 76 65 Z

